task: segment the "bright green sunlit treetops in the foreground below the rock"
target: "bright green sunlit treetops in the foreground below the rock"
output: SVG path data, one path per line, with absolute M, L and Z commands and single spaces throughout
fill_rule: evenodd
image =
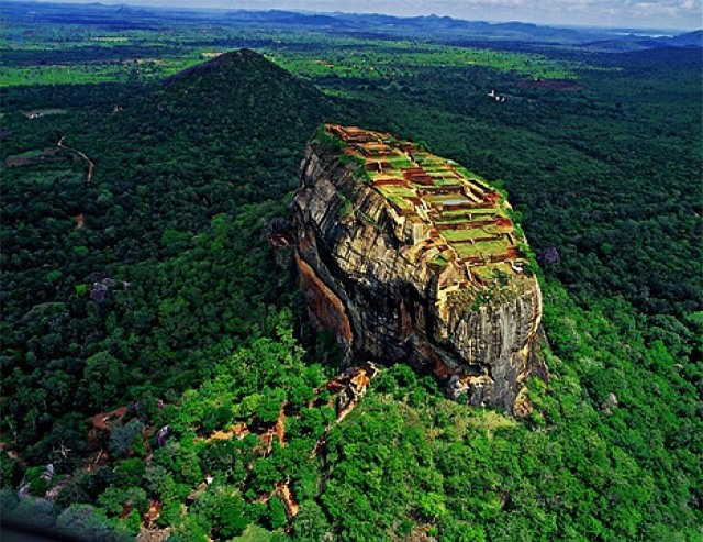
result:
M 334 425 L 331 406 L 313 401 L 324 369 L 304 362 L 283 314 L 271 323 L 279 339 L 237 349 L 157 416 L 172 429 L 163 447 L 113 454 L 58 502 L 82 496 L 97 507 L 91 518 L 129 532 L 138 516 L 125 507 L 142 513 L 157 501 L 156 522 L 175 527 L 174 540 L 230 540 L 247 526 L 282 532 L 275 488 L 284 483 L 300 502 L 297 540 L 698 540 L 703 425 L 700 389 L 687 380 L 701 383 L 700 367 L 678 367 L 661 343 L 647 347 L 632 311 L 615 327 L 556 284 L 547 298 L 553 379 L 531 384 L 528 420 L 448 400 L 433 378 L 395 365 Z M 263 429 L 281 409 L 284 444 L 267 451 Z M 252 433 L 211 438 L 239 422 Z

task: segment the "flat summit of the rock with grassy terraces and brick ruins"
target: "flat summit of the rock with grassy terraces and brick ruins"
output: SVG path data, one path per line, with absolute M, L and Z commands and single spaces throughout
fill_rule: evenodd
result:
M 466 267 L 470 281 L 496 272 L 522 274 L 509 204 L 486 181 L 453 161 L 390 134 L 328 124 L 326 134 L 343 142 L 345 154 L 364 164 L 366 178 L 401 217 L 416 225 L 420 254 L 429 263 Z

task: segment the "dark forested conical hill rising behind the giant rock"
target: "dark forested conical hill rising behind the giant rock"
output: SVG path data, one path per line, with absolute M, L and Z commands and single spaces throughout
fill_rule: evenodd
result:
M 308 136 L 336 111 L 312 85 L 249 49 L 225 53 L 167 78 L 154 106 L 167 133 L 180 137 L 175 132 L 188 126 L 192 144 L 232 165 L 220 178 L 245 176 L 254 182 L 258 175 L 252 193 L 256 200 L 279 198 L 294 187 Z M 213 142 L 215 133 L 221 137 Z M 250 163 L 237 162 L 247 156 Z M 290 176 L 286 188 L 266 181 L 270 168 L 278 172 L 279 182 L 282 173 Z

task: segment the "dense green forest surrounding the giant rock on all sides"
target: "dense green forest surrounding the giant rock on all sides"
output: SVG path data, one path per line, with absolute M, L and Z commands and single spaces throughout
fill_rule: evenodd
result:
M 119 41 L 45 65 L 3 42 L 3 516 L 100 540 L 701 540 L 700 48 L 42 32 Z M 213 44 L 269 59 L 194 64 Z M 168 67 L 91 64 L 131 55 Z M 60 62 L 88 76 L 16 79 Z M 323 121 L 507 189 L 551 372 L 527 419 L 398 365 L 337 420 L 334 340 L 268 240 Z

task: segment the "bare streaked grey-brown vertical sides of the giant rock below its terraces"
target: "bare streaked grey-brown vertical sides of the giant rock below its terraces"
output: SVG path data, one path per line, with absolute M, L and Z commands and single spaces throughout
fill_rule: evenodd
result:
M 333 143 L 311 140 L 293 200 L 313 321 L 335 330 L 347 364 L 408 363 L 473 405 L 513 410 L 523 381 L 548 375 L 537 280 L 515 273 L 505 284 L 467 283 L 465 264 L 438 268 L 417 241 L 422 224 L 390 206 L 359 161 Z

